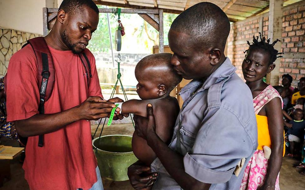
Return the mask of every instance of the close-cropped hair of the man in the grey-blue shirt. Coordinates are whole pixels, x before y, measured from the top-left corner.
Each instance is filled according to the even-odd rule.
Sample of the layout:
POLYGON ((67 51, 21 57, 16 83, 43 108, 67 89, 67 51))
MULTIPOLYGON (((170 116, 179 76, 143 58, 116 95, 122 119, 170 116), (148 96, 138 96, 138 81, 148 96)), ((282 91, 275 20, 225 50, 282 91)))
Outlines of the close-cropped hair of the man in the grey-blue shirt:
POLYGON ((200 2, 179 14, 171 29, 188 34, 189 41, 197 47, 224 50, 230 33, 230 21, 217 5, 200 2))

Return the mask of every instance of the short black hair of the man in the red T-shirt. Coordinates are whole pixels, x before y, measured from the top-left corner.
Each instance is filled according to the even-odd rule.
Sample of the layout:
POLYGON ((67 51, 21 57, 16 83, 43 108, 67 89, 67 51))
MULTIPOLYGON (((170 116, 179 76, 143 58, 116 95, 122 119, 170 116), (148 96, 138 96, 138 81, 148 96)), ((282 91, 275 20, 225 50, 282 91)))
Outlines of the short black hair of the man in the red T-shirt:
POLYGON ((64 10, 67 13, 73 14, 81 12, 83 6, 93 9, 97 14, 99 9, 92 0, 64 0, 58 10, 64 10))

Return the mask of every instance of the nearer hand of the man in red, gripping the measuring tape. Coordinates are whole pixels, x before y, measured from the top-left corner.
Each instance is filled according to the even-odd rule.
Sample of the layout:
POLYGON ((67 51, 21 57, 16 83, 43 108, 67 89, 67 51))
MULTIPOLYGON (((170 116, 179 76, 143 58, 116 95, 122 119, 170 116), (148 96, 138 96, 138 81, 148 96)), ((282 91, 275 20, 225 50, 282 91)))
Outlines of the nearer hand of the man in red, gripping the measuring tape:
MULTIPOLYGON (((112 108, 116 107, 113 103, 107 103, 101 97, 89 97, 76 108, 79 119, 98 120, 106 118, 111 113, 112 108)), ((119 111, 119 108, 117 108, 119 111)))

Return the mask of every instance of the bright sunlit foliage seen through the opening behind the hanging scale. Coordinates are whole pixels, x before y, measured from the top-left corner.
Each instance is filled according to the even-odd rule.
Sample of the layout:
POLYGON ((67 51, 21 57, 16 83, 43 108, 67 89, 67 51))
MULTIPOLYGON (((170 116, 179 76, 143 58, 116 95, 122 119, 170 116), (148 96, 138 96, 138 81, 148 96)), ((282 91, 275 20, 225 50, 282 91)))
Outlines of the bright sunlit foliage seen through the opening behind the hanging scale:
MULTIPOLYGON (((98 6, 105 8, 105 6, 98 6)), ((163 14, 164 45, 168 44, 168 30, 177 14, 163 14)), ((114 35, 117 29, 117 16, 109 13, 113 49, 114 35)), ((125 27, 122 37, 122 53, 152 53, 152 47, 159 44, 159 32, 137 14, 121 14, 121 22, 125 27)), ((92 52, 111 52, 106 13, 100 13, 97 30, 93 33, 88 48, 92 52)))

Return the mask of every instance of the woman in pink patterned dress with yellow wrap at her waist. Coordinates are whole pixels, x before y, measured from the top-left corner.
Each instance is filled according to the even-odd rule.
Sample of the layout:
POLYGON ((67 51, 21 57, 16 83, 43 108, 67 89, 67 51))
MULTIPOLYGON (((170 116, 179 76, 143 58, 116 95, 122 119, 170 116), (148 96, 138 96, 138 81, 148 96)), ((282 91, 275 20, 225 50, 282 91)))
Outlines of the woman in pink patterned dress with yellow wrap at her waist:
POLYGON ((279 187, 279 171, 282 165, 284 138, 283 138, 283 114, 282 98, 271 86, 263 82, 263 77, 274 68, 274 61, 278 51, 274 44, 265 37, 253 36, 253 43, 245 60, 242 63, 242 71, 246 84, 253 96, 258 127, 258 147, 246 166, 240 189, 242 190, 274 190, 279 187))

